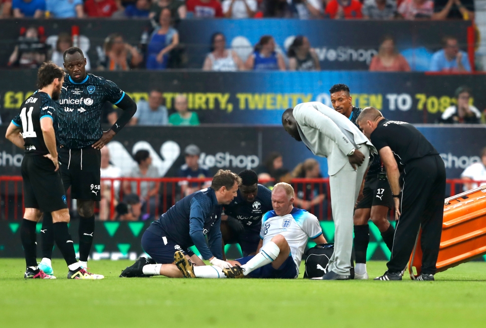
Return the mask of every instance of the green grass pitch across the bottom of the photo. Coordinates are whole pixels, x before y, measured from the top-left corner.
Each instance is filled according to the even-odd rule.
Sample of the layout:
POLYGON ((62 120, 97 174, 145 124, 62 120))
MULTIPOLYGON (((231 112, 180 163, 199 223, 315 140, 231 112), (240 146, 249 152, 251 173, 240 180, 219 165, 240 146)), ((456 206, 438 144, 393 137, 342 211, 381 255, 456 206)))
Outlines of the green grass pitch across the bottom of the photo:
MULTIPOLYGON (((130 261, 91 261, 104 280, 26 280, 22 259, 0 259, 2 327, 484 327, 486 263, 436 282, 118 278, 130 261)), ((369 262, 370 277, 385 262, 369 262)), ((301 273, 302 276, 302 273, 301 273)))

